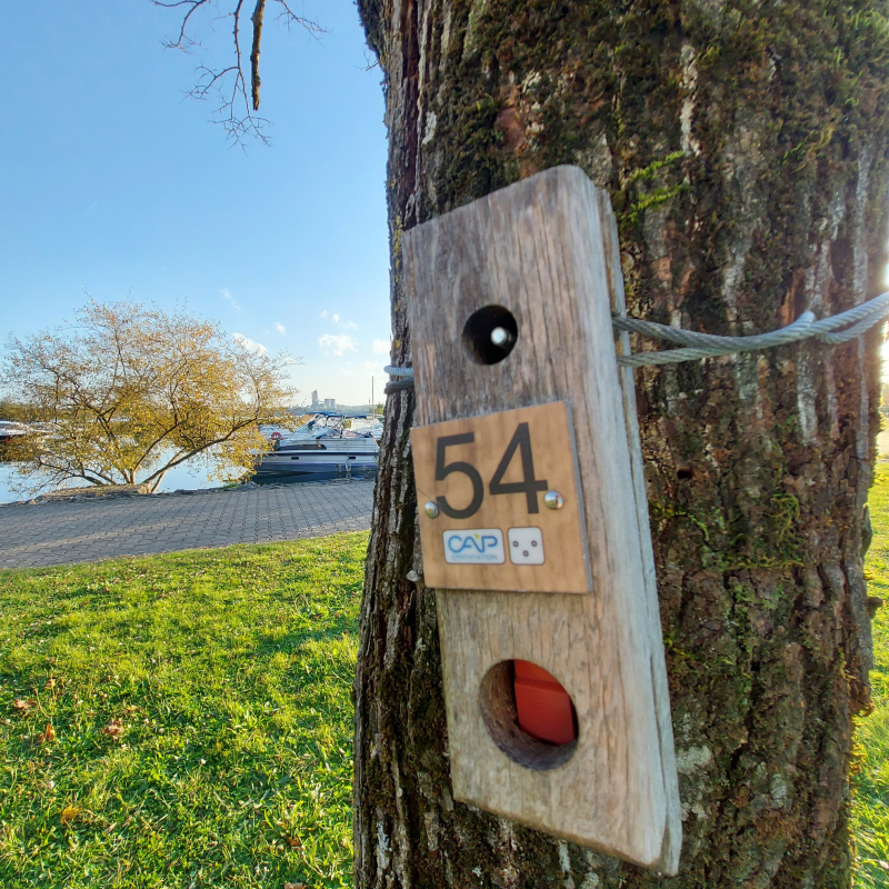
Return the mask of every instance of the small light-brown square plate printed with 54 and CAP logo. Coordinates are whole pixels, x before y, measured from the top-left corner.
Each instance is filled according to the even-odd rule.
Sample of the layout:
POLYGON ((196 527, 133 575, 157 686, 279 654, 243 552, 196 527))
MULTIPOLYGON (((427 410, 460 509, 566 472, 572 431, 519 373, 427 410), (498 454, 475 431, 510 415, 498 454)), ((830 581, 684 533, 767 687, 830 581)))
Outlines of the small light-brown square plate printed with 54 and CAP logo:
POLYGON ((411 446, 427 583, 590 590, 563 401, 420 427, 411 446))

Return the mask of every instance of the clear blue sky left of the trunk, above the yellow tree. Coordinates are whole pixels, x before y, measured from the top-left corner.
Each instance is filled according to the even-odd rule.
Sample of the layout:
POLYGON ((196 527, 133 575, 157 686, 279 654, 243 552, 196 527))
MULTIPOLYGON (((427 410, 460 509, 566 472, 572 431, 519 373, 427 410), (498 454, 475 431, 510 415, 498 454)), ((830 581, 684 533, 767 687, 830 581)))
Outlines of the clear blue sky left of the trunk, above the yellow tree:
MULTIPOLYGON (((271 8, 270 8, 271 9, 271 8)), ((184 98, 207 59, 162 47, 174 11, 149 0, 8 4, 0 32, 2 333, 61 323, 87 300, 187 303, 312 389, 377 400, 388 362, 386 129, 380 70, 349 0, 267 16, 261 113, 271 148, 231 148, 184 98), (376 351, 374 351, 376 347, 376 351)), ((249 26, 249 23, 248 23, 249 26)), ((226 61, 230 22, 200 19, 226 61)), ((246 39, 249 41, 249 27, 246 39)), ((3 337, 3 340, 6 336, 3 337)))

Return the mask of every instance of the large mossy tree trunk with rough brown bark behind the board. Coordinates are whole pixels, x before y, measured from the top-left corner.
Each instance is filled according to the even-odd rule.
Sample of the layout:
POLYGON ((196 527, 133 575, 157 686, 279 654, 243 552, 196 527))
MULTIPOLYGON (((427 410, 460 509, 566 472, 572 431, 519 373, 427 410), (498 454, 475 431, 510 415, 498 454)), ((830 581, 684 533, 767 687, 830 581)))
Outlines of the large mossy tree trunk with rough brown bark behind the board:
MULTIPOLYGON (((411 362, 401 232, 557 163, 611 194, 631 316, 752 333, 879 292, 885 2, 359 7, 386 76, 396 363, 411 362)), ((682 798, 673 878, 453 801, 413 398, 388 399, 356 679, 357 887, 849 885, 878 342, 636 372, 682 798)))

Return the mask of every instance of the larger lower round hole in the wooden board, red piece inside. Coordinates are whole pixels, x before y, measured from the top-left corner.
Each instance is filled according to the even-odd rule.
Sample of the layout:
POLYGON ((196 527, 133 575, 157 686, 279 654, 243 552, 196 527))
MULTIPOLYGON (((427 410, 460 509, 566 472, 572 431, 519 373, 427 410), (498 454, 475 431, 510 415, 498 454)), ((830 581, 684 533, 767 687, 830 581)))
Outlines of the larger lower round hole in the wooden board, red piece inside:
POLYGON ((481 718, 491 740, 513 762, 558 769, 577 748, 577 711, 552 673, 528 660, 495 663, 479 689, 481 718))

